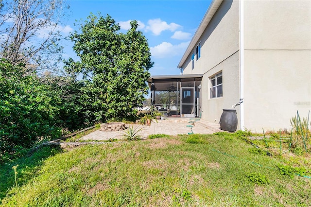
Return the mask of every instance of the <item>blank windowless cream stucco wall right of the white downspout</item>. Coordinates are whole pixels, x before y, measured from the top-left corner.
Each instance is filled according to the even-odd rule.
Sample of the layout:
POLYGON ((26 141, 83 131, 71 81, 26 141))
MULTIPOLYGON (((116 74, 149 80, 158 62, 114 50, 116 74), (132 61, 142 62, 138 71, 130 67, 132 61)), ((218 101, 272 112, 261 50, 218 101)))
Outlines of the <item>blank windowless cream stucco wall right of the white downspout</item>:
POLYGON ((291 128, 311 110, 311 1, 244 2, 245 128, 291 128))

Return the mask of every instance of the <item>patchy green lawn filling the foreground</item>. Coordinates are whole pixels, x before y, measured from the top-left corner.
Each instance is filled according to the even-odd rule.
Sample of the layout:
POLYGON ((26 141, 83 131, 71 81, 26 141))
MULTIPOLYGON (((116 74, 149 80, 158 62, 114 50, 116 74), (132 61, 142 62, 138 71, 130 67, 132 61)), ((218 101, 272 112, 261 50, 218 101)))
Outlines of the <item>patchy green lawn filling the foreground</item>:
POLYGON ((310 155, 267 156, 250 148, 225 134, 45 147, 1 166, 1 205, 310 205, 311 179, 280 168, 299 163, 310 175, 310 155), (12 169, 17 164, 18 188, 12 169))

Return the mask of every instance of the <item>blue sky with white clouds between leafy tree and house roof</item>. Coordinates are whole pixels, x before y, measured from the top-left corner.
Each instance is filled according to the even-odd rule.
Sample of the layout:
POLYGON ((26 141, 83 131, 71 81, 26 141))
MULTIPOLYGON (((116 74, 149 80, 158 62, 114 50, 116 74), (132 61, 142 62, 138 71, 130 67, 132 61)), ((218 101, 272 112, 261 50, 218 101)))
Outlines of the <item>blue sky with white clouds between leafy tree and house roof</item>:
MULTIPOLYGON (((75 20, 90 13, 109 14, 126 32, 129 20, 137 20, 148 40, 154 67, 151 75, 179 74, 177 65, 204 17, 210 0, 68 0, 70 13, 64 21, 66 32, 78 31, 75 20)), ((73 44, 64 43, 64 58, 75 57, 73 44)), ((75 59, 75 58, 74 58, 75 59)))

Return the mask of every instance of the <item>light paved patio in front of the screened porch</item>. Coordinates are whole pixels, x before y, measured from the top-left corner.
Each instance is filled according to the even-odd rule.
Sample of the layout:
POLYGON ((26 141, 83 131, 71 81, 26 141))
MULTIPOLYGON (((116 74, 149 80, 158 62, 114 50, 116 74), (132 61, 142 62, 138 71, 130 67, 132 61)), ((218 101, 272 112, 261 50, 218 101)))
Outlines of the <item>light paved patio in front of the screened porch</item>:
MULTIPOLYGON (((188 134, 191 132, 191 127, 187 127, 187 125, 191 125, 189 121, 190 118, 165 118, 165 120, 153 120, 149 125, 141 125, 141 124, 126 124, 126 127, 134 127, 138 129, 142 129, 139 132, 141 138, 147 138, 149 135, 153 134, 166 134, 166 135, 180 135, 180 134, 188 134)), ((103 132, 97 130, 92 132, 79 140, 109 140, 109 139, 122 139, 122 131, 116 132, 103 132)), ((194 134, 213 134, 215 132, 220 132, 222 130, 219 129, 219 124, 212 123, 204 120, 194 121, 194 125, 192 127, 192 131, 194 134)))

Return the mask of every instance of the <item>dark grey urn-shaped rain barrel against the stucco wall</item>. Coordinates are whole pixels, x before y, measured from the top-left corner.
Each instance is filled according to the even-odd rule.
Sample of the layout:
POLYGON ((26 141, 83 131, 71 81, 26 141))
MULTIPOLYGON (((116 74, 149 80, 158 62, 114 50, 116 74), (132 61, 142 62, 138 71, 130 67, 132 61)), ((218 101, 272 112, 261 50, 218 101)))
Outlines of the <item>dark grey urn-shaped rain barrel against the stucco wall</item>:
POLYGON ((223 109, 222 116, 220 117, 220 129, 228 132, 234 132, 237 130, 238 117, 237 110, 235 109, 223 109))

